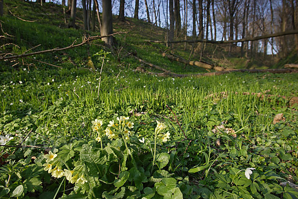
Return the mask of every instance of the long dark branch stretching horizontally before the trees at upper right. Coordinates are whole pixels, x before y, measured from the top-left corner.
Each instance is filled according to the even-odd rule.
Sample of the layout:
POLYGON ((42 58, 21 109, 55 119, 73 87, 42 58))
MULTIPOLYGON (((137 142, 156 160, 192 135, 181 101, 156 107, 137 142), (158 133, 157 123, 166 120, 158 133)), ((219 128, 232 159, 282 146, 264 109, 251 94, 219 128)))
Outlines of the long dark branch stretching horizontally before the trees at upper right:
POLYGON ((237 42, 243 42, 243 41, 256 41, 256 40, 261 40, 261 39, 267 39, 267 38, 272 38, 272 37, 280 37, 280 36, 285 36, 285 35, 290 35, 290 34, 298 34, 298 29, 297 30, 290 30, 290 31, 284 31, 284 32, 277 32, 273 34, 265 34, 257 37, 252 37, 252 38, 243 38, 243 39, 236 39, 236 40, 228 40, 228 41, 214 41, 214 40, 206 40, 206 39, 196 39, 196 40, 180 40, 180 41, 154 41, 154 40, 145 40, 146 42, 151 42, 151 43, 213 43, 213 44, 224 44, 224 43, 237 43, 237 42))

